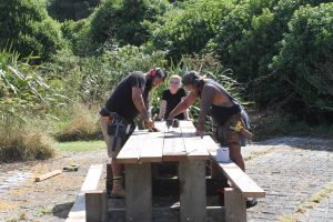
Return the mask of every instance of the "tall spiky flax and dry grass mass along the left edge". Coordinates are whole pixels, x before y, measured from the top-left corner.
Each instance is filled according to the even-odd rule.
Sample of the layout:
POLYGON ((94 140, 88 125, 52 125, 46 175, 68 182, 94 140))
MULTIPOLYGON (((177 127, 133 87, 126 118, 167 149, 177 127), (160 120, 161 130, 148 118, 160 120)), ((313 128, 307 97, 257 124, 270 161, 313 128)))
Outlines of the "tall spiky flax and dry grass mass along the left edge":
POLYGON ((19 54, 10 48, 0 51, 1 162, 53 155, 46 133, 29 123, 31 117, 46 118, 61 97, 39 74, 40 67, 30 64, 33 59, 19 60, 19 54))

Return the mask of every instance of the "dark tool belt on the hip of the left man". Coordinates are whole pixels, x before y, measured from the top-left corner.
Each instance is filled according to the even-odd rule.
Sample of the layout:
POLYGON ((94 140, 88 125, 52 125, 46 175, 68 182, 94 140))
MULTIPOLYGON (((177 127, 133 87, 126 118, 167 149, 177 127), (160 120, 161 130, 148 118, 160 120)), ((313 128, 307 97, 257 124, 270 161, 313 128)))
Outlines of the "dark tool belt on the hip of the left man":
POLYGON ((120 139, 124 142, 134 131, 133 122, 125 120, 117 112, 110 112, 110 121, 108 122, 108 135, 113 137, 112 151, 115 150, 117 142, 120 139))

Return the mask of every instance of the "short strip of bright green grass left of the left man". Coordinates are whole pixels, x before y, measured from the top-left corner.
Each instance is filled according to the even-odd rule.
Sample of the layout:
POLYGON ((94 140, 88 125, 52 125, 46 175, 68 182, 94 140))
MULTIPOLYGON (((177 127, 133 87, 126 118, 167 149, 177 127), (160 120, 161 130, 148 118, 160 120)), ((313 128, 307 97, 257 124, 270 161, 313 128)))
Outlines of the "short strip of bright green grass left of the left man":
POLYGON ((92 150, 107 149, 104 141, 75 141, 75 142, 58 142, 56 149, 59 151, 83 152, 92 150))

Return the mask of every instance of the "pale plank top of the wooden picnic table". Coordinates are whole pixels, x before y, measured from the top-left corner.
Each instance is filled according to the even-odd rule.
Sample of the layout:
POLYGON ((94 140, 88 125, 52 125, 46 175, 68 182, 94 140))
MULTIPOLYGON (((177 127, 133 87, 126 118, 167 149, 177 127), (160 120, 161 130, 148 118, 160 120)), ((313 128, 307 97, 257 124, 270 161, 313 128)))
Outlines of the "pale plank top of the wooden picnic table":
POLYGON ((167 128, 165 122, 155 122, 159 132, 138 130, 129 138, 117 157, 120 163, 163 162, 180 160, 206 160, 218 144, 205 135, 195 135, 191 121, 180 121, 179 128, 167 128))

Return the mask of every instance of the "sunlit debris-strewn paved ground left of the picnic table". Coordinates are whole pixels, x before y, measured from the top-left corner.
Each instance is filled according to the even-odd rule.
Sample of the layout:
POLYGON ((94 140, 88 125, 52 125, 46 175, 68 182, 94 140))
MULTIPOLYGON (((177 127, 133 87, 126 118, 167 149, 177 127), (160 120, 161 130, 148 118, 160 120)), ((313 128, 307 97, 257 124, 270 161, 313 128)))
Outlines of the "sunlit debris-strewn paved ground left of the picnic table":
POLYGON ((64 221, 91 164, 104 163, 105 151, 60 153, 52 160, 0 165, 0 221, 64 221), (36 175, 79 164, 41 182, 36 175))

